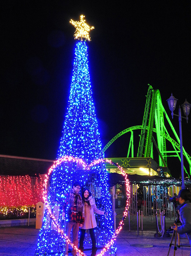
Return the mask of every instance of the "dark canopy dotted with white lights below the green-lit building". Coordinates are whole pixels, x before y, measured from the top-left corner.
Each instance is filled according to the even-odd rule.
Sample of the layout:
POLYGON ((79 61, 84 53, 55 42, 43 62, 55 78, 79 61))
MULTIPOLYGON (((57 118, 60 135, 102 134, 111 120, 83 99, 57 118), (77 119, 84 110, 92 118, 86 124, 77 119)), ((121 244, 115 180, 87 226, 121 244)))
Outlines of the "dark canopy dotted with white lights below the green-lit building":
MULTIPOLYGON (((176 185, 181 187, 181 179, 178 178, 167 178, 167 177, 159 177, 159 176, 149 176, 149 175, 138 175, 132 174, 128 175, 128 180, 130 184, 142 184, 144 186, 149 185, 160 185, 163 187, 168 187, 170 185, 176 185)), ((108 185, 110 187, 115 186, 116 184, 125 185, 125 178, 122 174, 119 173, 108 173, 108 185)), ((185 178, 186 187, 191 187, 191 180, 185 178)))

